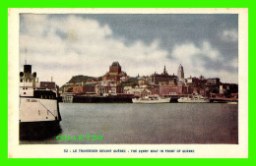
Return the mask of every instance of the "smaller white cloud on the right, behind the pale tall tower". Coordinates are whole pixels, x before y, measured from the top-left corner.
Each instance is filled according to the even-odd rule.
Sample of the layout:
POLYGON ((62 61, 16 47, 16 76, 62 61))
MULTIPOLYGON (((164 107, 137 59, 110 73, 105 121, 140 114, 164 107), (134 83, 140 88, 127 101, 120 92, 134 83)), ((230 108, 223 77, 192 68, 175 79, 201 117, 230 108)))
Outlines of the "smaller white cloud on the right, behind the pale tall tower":
POLYGON ((237 69, 238 63, 233 59, 231 63, 226 63, 221 52, 212 46, 209 41, 203 41, 196 45, 193 42, 176 44, 170 53, 175 64, 182 64, 185 71, 185 78, 199 77, 203 75, 206 78, 221 78, 221 81, 237 83, 237 75, 226 77, 228 73, 224 69, 237 69))

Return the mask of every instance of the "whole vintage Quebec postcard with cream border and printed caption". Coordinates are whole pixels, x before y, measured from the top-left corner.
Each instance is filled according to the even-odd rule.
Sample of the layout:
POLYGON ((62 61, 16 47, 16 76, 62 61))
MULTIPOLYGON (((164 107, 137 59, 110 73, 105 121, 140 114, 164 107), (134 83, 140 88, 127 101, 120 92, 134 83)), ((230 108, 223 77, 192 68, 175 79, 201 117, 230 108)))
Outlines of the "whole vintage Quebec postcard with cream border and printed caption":
POLYGON ((247 158, 247 9, 9 9, 10 158, 247 158))

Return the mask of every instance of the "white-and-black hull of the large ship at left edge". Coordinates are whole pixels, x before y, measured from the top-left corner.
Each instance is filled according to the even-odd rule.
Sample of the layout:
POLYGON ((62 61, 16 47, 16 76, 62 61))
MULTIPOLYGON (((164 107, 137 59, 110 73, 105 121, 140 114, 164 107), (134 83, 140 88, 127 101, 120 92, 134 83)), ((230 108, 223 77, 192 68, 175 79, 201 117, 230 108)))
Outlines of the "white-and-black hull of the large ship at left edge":
POLYGON ((47 138, 61 131, 58 101, 20 97, 20 138, 47 138))

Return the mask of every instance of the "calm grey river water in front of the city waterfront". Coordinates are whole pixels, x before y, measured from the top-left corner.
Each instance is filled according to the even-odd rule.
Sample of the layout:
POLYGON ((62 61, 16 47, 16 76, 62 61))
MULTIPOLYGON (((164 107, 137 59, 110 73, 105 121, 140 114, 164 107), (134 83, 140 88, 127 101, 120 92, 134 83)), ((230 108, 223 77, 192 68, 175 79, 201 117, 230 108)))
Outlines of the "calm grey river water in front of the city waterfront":
POLYGON ((62 132, 101 140, 22 140, 35 144, 238 143, 238 105, 224 103, 60 103, 62 132))

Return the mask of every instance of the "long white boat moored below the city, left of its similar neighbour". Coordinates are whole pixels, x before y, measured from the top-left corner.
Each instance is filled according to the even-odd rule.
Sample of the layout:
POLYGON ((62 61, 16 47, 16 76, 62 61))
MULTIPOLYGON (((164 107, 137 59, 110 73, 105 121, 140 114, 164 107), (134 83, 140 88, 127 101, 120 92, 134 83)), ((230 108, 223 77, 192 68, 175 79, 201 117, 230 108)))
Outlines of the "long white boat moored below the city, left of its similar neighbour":
POLYGON ((170 97, 160 97, 159 95, 145 96, 140 98, 133 98, 133 103, 169 103, 170 97))

